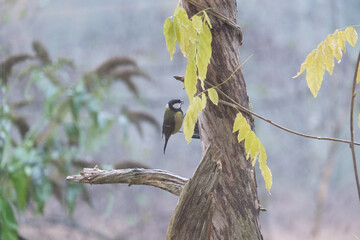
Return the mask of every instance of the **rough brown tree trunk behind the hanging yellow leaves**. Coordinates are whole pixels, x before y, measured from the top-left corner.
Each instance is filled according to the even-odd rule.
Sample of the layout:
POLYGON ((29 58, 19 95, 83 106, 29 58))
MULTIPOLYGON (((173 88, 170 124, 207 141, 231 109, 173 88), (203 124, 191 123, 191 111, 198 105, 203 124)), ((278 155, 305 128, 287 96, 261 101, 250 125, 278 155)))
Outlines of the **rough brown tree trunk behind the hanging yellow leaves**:
MULTIPOLYGON (((236 22, 235 0, 197 0, 196 2, 236 22)), ((183 6, 189 17, 202 10, 191 4, 189 0, 184 0, 183 6)), ((232 26, 213 15, 210 15, 210 18, 213 26, 212 58, 206 81, 218 85, 240 65, 241 40, 238 31, 232 26)), ((240 70, 221 85, 220 89, 248 108, 246 85, 240 70)), ((228 101, 220 93, 219 98, 228 101)), ((169 226, 168 239, 262 239, 254 168, 246 158, 243 143, 239 144, 236 135, 232 133, 236 114, 236 110, 232 107, 223 104, 215 106, 212 103, 208 103, 200 114, 199 127, 203 154, 210 145, 219 149, 215 163, 214 159, 208 160, 215 164, 213 170, 216 169, 216 174, 213 174, 211 168, 200 169, 199 166, 187 185, 199 185, 199 189, 206 189, 205 185, 211 184, 211 188, 208 188, 211 193, 206 194, 205 191, 184 196, 189 193, 182 191, 177 209, 182 209, 184 220, 188 222, 191 220, 193 224, 187 224, 187 221, 174 222, 175 211, 169 226), (204 181, 199 177, 204 174, 216 179, 209 178, 204 181), (187 201, 182 201, 185 197, 187 201), (200 212, 206 214, 194 211, 194 206, 202 209, 203 211, 200 212)), ((248 122, 253 123, 248 115, 243 115, 248 118, 248 122)), ((191 186, 186 187, 188 188, 191 186)))

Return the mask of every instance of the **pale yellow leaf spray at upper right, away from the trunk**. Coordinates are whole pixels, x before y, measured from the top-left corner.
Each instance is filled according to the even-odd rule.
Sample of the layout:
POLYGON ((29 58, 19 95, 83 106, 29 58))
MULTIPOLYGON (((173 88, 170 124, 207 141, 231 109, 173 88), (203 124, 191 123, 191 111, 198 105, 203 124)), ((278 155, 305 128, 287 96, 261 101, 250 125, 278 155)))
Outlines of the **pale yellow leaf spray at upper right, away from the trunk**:
MULTIPOLYGON (((308 87, 314 98, 316 98, 324 78, 325 70, 330 75, 333 73, 334 57, 340 62, 343 55, 342 52, 346 51, 346 41, 354 47, 357 40, 358 35, 353 27, 347 27, 344 31, 336 29, 334 33, 328 35, 324 41, 319 43, 316 49, 307 55, 305 61, 301 64, 300 71, 293 78, 300 76, 306 69, 308 87)), ((359 81, 360 77, 357 79, 358 83, 359 81)))

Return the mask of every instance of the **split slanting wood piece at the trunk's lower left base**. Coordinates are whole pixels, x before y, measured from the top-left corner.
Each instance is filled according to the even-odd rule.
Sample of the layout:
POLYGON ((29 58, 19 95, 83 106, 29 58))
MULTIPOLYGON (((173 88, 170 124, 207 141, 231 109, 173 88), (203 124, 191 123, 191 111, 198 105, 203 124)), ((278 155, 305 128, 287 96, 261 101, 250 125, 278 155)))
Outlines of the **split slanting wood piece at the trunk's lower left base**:
POLYGON ((211 219, 216 208, 213 192, 219 183, 221 157, 220 150, 210 145, 193 178, 182 190, 169 224, 167 239, 207 239, 210 236, 211 221, 199 219, 211 219), (194 215, 197 217, 194 218, 194 215))

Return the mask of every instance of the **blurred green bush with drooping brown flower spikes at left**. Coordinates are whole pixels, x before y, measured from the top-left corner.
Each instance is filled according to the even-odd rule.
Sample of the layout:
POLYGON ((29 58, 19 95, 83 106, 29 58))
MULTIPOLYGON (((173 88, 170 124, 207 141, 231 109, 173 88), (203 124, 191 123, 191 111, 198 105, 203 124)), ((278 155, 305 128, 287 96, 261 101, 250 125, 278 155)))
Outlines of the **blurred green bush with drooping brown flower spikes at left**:
POLYGON ((143 121, 159 129, 149 114, 124 107, 119 115, 104 106, 115 81, 131 86, 129 91, 140 97, 132 77, 150 78, 132 59, 110 58, 74 81, 71 60, 53 61, 38 41, 33 50, 34 55, 10 56, 0 64, 1 239, 17 239, 14 212, 24 211, 32 202, 36 212, 43 213, 54 195, 71 215, 79 196, 90 201, 84 186, 65 183, 65 176, 104 143, 119 116, 134 123, 140 133, 143 121), (20 64, 23 69, 15 74, 20 64), (25 98, 14 102, 11 96, 16 91, 24 92, 25 98))

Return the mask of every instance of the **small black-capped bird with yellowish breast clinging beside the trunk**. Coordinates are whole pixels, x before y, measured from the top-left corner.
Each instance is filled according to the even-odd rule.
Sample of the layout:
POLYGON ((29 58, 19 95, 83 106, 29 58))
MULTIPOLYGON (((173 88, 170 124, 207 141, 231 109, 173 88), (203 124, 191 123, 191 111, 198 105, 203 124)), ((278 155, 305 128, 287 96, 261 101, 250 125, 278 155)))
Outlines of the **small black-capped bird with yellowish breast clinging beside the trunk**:
POLYGON ((170 136, 179 132, 183 123, 184 113, 181 110, 183 103, 180 99, 172 99, 166 105, 162 128, 162 136, 164 137, 165 135, 164 154, 170 136))

